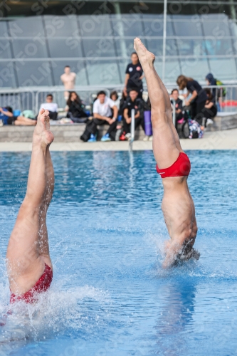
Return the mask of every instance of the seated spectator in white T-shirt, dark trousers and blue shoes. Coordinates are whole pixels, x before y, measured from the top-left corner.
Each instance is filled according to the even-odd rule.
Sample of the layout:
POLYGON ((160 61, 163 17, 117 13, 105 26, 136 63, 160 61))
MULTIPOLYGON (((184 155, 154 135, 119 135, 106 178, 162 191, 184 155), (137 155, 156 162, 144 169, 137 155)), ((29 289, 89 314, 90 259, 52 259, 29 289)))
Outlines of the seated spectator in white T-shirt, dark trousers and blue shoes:
POLYGON ((117 113, 115 102, 107 98, 106 93, 101 90, 93 105, 93 123, 90 125, 91 135, 88 142, 96 141, 97 125, 109 125, 107 133, 101 139, 102 142, 115 140, 117 113))

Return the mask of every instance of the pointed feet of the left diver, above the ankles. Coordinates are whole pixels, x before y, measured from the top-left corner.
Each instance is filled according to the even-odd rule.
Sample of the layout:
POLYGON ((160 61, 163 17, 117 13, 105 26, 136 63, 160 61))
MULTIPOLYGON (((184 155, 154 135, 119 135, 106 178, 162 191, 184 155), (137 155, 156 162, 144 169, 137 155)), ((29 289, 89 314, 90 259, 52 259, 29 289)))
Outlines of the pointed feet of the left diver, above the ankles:
POLYGON ((36 128, 33 132, 33 141, 40 142, 41 147, 45 148, 53 142, 53 132, 50 130, 50 118, 48 110, 41 109, 37 117, 36 128))

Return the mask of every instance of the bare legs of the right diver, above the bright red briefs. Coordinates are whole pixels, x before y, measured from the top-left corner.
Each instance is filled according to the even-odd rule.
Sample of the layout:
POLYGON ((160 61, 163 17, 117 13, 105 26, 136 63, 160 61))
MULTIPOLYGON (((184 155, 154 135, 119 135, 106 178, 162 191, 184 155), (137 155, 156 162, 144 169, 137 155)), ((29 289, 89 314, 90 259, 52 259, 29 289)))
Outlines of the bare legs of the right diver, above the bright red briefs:
POLYGON ((172 122, 169 94, 154 68, 154 54, 147 51, 142 41, 135 38, 135 50, 147 80, 152 105, 153 152, 159 168, 170 167, 179 157, 179 136, 172 122))

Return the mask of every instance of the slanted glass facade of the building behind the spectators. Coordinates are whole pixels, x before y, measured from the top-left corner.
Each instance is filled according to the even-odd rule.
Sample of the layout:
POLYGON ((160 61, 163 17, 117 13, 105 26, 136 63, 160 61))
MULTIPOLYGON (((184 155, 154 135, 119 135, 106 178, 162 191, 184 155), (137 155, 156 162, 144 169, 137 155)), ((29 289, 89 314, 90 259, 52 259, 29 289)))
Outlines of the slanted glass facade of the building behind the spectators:
MULTIPOLYGON (((0 85, 60 85, 65 65, 77 85, 119 85, 139 36, 162 73, 163 3, 4 1, 0 85)), ((168 1, 165 82, 209 72, 237 81, 237 2, 168 1)))

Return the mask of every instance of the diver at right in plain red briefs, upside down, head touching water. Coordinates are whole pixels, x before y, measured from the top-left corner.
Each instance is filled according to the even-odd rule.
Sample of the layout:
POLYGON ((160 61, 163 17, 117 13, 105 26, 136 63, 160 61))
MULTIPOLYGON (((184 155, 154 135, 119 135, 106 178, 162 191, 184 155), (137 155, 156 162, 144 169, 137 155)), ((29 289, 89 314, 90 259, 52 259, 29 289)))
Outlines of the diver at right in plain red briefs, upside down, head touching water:
POLYGON ((181 149, 172 122, 169 94, 154 68, 154 54, 147 51, 139 38, 135 38, 135 50, 144 70, 152 105, 153 152, 157 172, 162 177, 162 211, 170 236, 166 242, 163 263, 163 267, 167 268, 177 259, 199 258, 199 253, 193 248, 197 226, 194 201, 187 184, 191 164, 181 149))

